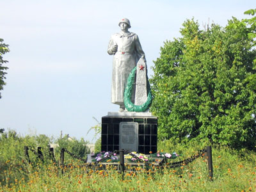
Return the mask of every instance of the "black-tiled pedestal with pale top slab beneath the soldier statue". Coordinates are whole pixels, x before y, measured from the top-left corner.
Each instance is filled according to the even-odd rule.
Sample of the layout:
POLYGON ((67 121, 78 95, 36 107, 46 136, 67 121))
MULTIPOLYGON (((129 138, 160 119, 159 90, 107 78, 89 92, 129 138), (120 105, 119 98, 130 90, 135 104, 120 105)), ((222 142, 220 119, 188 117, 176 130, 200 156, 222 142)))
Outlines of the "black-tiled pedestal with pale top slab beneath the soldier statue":
POLYGON ((109 112, 102 116, 101 150, 120 150, 120 123, 138 123, 138 152, 157 152, 157 117, 151 113, 109 112))

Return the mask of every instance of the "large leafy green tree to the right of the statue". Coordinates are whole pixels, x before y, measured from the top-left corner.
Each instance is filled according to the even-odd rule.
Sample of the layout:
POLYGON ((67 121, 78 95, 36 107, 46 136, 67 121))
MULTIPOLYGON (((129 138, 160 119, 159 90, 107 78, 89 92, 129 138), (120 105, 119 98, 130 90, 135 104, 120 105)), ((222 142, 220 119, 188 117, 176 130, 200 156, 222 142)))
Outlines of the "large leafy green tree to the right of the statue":
POLYGON ((233 17, 200 30, 186 20, 182 37, 164 43, 150 79, 160 139, 255 147, 255 24, 233 17))

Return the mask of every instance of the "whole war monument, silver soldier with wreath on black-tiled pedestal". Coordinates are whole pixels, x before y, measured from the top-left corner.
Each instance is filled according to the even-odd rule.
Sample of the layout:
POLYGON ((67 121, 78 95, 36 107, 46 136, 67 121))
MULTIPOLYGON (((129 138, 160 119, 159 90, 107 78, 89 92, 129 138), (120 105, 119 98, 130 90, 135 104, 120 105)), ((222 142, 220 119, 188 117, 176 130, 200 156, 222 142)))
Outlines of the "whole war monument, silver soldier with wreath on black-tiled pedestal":
POLYGON ((120 33, 111 36, 108 54, 113 55, 111 102, 118 112, 102 117, 101 150, 125 149, 149 154, 157 151, 157 117, 148 108, 152 102, 147 62, 131 23, 121 19, 120 33))

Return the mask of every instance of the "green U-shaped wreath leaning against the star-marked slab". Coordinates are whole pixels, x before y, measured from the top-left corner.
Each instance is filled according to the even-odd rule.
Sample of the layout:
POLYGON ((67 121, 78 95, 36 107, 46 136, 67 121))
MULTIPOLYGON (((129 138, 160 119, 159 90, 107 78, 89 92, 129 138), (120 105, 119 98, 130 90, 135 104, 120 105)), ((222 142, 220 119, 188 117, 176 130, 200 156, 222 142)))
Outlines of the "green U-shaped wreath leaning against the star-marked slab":
POLYGON ((136 69, 137 67, 134 67, 129 74, 129 77, 127 79, 127 85, 125 87, 124 91, 124 106, 127 109, 127 111, 134 111, 134 112, 144 112, 146 111, 151 102, 152 102, 152 93, 150 90, 150 84, 148 82, 147 78, 147 92, 148 92, 148 97, 145 103, 141 104, 140 106, 136 106, 131 102, 131 96, 132 96, 132 83, 134 82, 135 79, 135 74, 136 74, 136 69))

